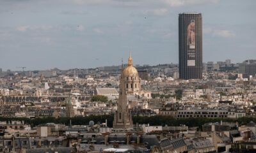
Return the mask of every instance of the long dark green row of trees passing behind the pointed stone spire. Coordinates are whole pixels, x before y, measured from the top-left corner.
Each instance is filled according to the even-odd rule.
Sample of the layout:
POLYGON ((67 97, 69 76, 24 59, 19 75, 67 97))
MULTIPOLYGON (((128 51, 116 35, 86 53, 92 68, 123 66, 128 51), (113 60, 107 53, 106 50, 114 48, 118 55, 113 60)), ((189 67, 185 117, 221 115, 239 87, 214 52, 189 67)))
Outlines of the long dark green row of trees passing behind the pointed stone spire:
MULTIPOLYGON (((108 120, 108 127, 113 127, 113 119, 114 115, 90 115, 85 117, 59 117, 58 119, 54 117, 37 117, 36 119, 28 119, 28 118, 22 118, 22 117, 0 117, 0 121, 10 121, 10 120, 23 120, 25 124, 30 124, 31 127, 38 126, 40 124, 46 124, 49 122, 53 122, 56 124, 70 124, 70 119, 72 120, 73 125, 88 125, 90 120, 93 120, 95 123, 97 122, 105 122, 108 120)), ((232 119, 232 118, 207 118, 207 117, 200 117, 200 118, 184 118, 184 119, 177 119, 175 117, 171 116, 165 116, 165 115, 155 115, 151 117, 141 117, 139 115, 132 116, 132 120, 134 124, 138 122, 138 124, 150 124, 152 126, 180 126, 181 124, 184 124, 188 127, 199 127, 202 129, 202 126, 205 123, 209 122, 220 122, 221 120, 223 122, 238 122, 239 125, 248 124, 249 122, 253 121, 256 122, 256 117, 240 117, 238 119, 232 119)))

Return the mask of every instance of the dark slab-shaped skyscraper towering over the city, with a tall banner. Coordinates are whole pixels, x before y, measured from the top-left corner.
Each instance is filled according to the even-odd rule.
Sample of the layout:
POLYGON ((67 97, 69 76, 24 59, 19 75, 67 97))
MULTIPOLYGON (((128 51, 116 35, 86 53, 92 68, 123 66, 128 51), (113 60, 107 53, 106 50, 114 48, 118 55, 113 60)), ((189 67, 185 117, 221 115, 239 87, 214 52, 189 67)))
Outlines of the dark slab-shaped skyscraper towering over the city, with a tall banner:
POLYGON ((202 78, 202 15, 179 14, 179 77, 202 78))

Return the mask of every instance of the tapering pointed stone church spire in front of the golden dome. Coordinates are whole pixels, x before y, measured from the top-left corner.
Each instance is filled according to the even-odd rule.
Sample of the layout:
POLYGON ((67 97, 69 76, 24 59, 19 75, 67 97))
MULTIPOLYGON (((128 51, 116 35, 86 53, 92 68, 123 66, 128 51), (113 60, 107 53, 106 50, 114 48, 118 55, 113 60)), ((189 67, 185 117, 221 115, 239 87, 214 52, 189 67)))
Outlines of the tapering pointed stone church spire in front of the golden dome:
POLYGON ((119 85, 119 99, 117 110, 114 115, 113 128, 129 129, 133 127, 132 115, 128 109, 127 92, 125 91, 125 77, 124 69, 122 66, 122 73, 119 85))

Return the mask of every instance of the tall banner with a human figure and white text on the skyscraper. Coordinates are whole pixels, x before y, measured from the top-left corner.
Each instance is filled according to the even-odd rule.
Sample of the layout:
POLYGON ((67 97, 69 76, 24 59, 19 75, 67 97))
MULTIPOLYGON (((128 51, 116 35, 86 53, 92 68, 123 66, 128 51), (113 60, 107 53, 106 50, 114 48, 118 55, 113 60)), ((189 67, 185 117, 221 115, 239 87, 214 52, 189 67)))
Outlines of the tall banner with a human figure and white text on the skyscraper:
POLYGON ((191 20, 187 28, 188 66, 195 66, 195 20, 191 20))

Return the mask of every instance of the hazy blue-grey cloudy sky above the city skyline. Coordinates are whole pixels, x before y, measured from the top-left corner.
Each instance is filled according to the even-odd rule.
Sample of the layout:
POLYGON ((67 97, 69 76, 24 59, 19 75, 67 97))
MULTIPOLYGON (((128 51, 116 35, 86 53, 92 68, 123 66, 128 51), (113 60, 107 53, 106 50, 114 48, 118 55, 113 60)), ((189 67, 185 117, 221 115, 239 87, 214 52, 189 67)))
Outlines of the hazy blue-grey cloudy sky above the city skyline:
POLYGON ((178 63, 178 15, 203 17, 203 61, 256 59, 255 0, 1 0, 0 68, 178 63))

